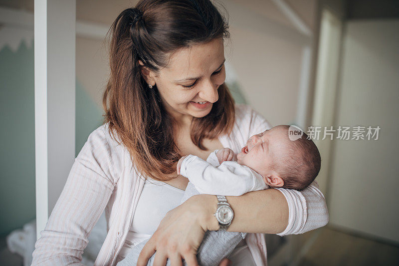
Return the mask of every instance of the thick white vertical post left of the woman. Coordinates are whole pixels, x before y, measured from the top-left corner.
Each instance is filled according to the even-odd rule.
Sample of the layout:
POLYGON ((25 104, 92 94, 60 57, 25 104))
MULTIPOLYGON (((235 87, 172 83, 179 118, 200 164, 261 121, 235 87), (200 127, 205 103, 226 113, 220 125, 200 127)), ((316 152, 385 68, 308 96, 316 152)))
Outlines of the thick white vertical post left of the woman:
POLYGON ((37 238, 75 158, 76 0, 34 0, 37 238))

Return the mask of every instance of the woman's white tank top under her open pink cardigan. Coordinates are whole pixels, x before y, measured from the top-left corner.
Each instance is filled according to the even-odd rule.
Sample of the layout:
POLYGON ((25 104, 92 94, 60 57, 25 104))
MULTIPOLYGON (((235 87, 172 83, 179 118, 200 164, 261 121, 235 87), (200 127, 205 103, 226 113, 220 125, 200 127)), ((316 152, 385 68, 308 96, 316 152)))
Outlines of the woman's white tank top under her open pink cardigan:
MULTIPOLYGON (((137 202, 129 233, 119 252, 118 261, 125 258, 130 249, 149 239, 154 234, 166 213, 180 205, 183 195, 184 190, 175 188, 165 182, 150 178, 146 180, 137 202)), ((242 265, 255 265, 244 240, 237 245, 229 259, 232 260, 233 265, 241 265, 240 261, 242 260, 244 261, 242 265)))

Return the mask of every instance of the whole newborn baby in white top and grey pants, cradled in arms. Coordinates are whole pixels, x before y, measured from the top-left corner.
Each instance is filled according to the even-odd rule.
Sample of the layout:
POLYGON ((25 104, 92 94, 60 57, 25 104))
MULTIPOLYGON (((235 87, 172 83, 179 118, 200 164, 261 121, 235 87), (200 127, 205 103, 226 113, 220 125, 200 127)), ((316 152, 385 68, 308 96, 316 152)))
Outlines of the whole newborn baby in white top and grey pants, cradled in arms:
MULTIPOLYGON (((280 125, 252 136, 236 156, 228 148, 213 151, 206 161, 194 155, 182 157, 177 172, 187 177, 182 202, 197 194, 239 196, 266 188, 302 190, 320 170, 320 154, 304 133, 299 139, 289 139, 289 126, 280 125), (237 159, 237 162, 231 161, 237 159)), ((246 233, 206 231, 198 249, 199 265, 214 266, 231 254, 246 233)), ((137 265, 138 257, 147 243, 132 247, 118 266, 137 265)), ((154 264, 155 254, 147 266, 154 264)), ((183 265, 187 263, 183 260, 183 265)), ((166 266, 171 266, 170 259, 166 266)))

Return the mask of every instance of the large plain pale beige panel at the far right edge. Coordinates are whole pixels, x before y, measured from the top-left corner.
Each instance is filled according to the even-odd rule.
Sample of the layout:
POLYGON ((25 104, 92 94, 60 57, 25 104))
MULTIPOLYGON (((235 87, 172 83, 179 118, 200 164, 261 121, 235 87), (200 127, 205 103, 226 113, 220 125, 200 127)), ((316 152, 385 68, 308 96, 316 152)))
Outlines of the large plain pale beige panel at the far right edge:
POLYGON ((380 126, 378 140, 337 140, 330 224, 399 242, 399 20, 348 21, 336 125, 380 126))

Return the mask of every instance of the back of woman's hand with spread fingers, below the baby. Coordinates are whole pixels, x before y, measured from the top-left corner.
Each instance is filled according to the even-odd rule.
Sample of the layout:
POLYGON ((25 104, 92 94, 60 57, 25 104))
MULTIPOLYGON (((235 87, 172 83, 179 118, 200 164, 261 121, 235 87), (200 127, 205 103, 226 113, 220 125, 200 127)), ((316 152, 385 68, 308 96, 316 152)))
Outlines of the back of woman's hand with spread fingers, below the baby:
MULTIPOLYGON (((183 265, 182 259, 186 260, 188 266, 198 266, 197 251, 205 232, 212 230, 207 228, 206 219, 209 219, 212 211, 215 212, 217 202, 214 196, 213 204, 199 200, 198 196, 201 195, 191 197, 166 214, 157 231, 141 251, 138 266, 146 266, 155 252, 154 266, 165 266, 168 258, 173 266, 183 265), (215 210, 209 206, 213 206, 215 210)), ((223 262, 224 265, 226 262, 223 262)))

